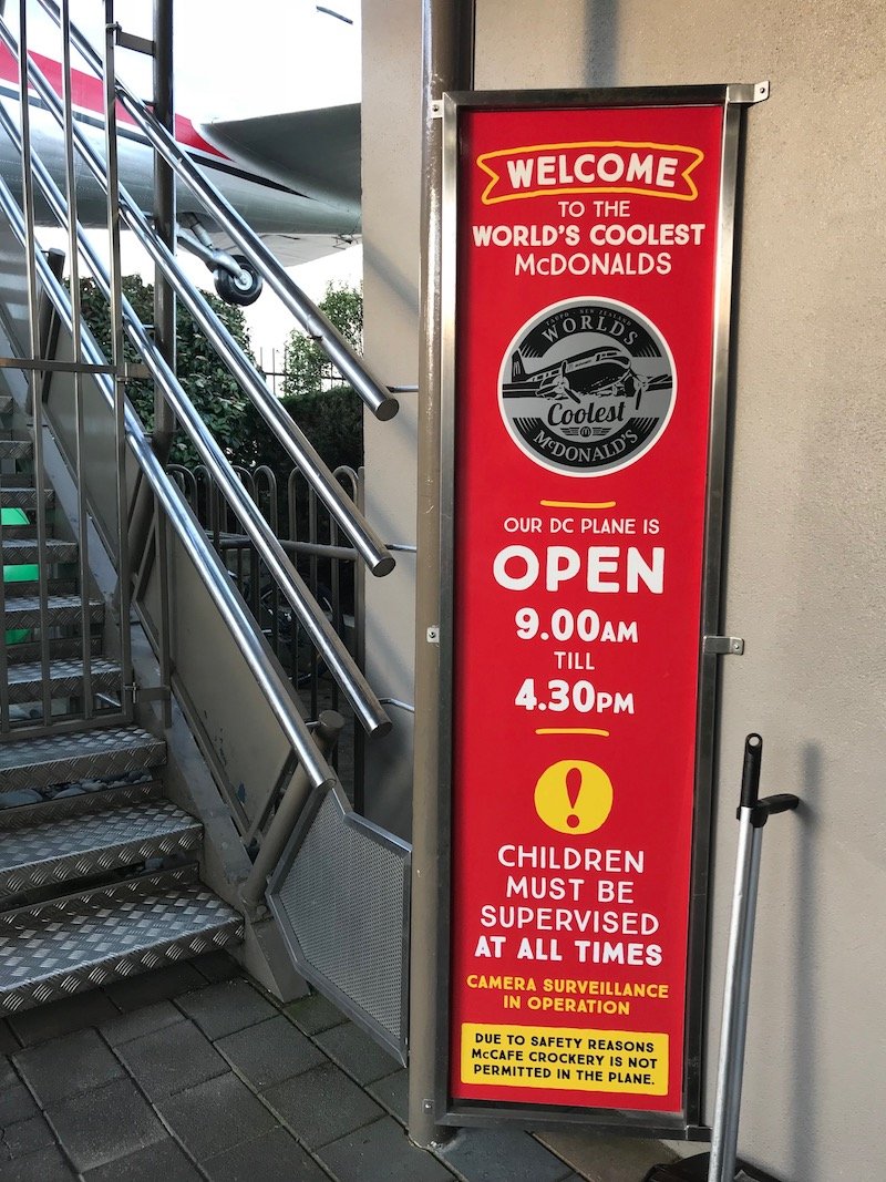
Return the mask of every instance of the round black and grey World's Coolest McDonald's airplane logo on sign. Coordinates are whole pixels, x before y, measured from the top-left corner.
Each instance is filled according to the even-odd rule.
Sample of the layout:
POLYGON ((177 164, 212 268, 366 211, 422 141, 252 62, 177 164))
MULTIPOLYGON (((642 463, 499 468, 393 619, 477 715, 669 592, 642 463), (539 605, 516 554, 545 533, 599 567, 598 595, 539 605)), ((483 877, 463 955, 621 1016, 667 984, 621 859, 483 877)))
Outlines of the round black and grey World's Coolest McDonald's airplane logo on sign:
POLYGON ((499 405, 516 446, 569 476, 634 463, 660 437, 677 375, 662 333, 636 309, 593 296, 553 304, 512 340, 499 405))

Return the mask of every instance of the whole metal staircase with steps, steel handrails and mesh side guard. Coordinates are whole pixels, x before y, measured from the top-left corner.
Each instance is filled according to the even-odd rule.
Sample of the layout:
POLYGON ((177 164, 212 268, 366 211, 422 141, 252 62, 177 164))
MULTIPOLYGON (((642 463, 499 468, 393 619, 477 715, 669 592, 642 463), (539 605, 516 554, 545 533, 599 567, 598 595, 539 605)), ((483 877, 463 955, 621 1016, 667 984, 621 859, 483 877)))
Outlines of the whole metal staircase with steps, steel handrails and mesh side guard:
MULTIPOLYGON (((27 59, 20 126, 0 104, 0 136, 24 161, 21 202, 0 177, 0 1013, 240 944, 269 991, 291 1000, 310 981, 405 1063, 410 847, 354 813, 327 761, 341 719, 315 693, 302 700, 262 631, 262 595, 304 630, 354 726, 382 738, 392 720, 299 572, 324 547, 276 532, 178 381, 172 294, 328 513, 330 556, 353 561, 356 584, 395 559, 119 183, 111 112, 125 109, 371 413, 387 420, 397 402, 195 169, 158 104, 116 78, 113 38, 97 54, 53 0, 39 7, 116 103, 103 156, 0 15, 0 45, 27 59), (71 208, 74 169, 63 191, 24 134, 28 97, 58 124, 65 162, 111 194, 110 264, 71 208), (60 252, 34 235, 34 187, 70 230, 70 286, 60 252), (165 293, 150 327, 122 291, 118 223, 165 293), (104 349, 80 316, 76 259, 108 301, 104 349), (125 397, 145 377, 156 435, 125 397), (168 470, 171 423, 237 522, 252 612, 217 530, 168 470)), ((159 174, 169 207, 172 176, 159 174)))

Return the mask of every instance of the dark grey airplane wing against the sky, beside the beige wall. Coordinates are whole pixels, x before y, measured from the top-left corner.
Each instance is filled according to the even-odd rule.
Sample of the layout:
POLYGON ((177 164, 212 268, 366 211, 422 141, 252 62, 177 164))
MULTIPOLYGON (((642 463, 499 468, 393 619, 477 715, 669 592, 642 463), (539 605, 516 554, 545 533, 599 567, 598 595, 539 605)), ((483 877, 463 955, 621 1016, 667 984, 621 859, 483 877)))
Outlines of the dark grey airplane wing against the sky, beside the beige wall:
POLYGON ((215 119, 198 125, 214 148, 243 167, 334 207, 360 227, 360 104, 215 119))

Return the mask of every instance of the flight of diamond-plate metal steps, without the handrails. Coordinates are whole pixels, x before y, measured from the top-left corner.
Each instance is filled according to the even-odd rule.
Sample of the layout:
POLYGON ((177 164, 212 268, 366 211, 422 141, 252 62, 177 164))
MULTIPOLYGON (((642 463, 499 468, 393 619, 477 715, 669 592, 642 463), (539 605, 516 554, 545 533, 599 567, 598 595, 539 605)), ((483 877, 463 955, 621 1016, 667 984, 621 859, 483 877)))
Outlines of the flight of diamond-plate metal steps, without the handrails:
MULTIPOLYGON (((2 421, 12 409, 9 397, 0 400, 2 421)), ((201 824, 163 799, 165 742, 123 715, 123 670, 103 651, 113 630, 105 628, 102 598, 80 595, 77 543, 54 535, 64 522, 56 520, 52 489, 43 493, 52 535, 41 610, 39 579, 27 570, 40 557, 32 455, 30 440, 0 440, 0 506, 19 511, 4 514, 0 547, 9 579, 1 641, 1 1013, 243 937, 240 914, 200 881, 201 824)))

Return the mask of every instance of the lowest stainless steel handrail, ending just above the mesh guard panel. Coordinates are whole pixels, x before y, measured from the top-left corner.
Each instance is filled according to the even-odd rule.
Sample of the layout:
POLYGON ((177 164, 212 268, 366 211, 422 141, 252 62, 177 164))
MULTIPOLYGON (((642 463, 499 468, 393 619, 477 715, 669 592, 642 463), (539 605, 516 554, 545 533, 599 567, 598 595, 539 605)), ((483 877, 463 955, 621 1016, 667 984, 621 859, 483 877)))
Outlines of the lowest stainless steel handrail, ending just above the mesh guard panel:
MULTIPOLYGON (((0 209, 6 215, 22 248, 26 252, 30 251, 31 243, 28 242, 25 219, 2 177, 0 177, 0 209)), ((32 256, 37 264, 40 282, 56 306, 65 329, 70 332, 72 330, 70 297, 53 275, 43 254, 39 251, 34 251, 32 256)), ((90 358, 93 364, 99 364, 100 359, 103 359, 102 350, 85 325, 82 332, 84 356, 90 358)), ((109 407, 112 408, 112 379, 108 375, 97 374, 96 383, 102 389, 109 407)), ((203 584, 221 612, 286 739, 292 745, 293 751, 297 752, 311 782, 317 787, 330 784, 334 780, 334 774, 326 764, 326 760, 318 752, 307 725, 295 708, 288 687, 278 674, 275 667, 267 660, 259 635, 252 625, 246 608, 230 586, 228 572, 209 545, 206 534, 196 524, 193 514, 184 505, 175 482, 167 475, 154 454, 138 417, 129 404, 125 407, 125 427, 126 440, 138 466, 144 472, 145 479, 150 483, 157 501, 171 522, 182 545, 194 560, 203 584)))

